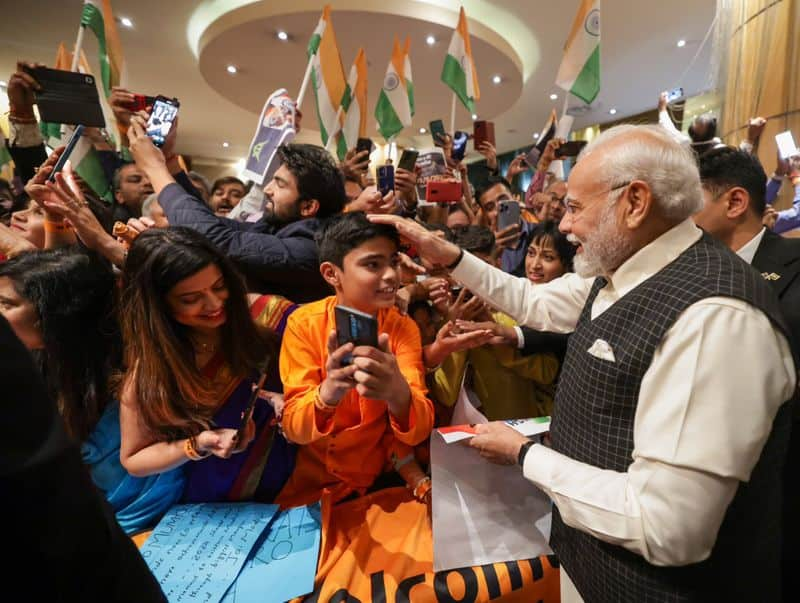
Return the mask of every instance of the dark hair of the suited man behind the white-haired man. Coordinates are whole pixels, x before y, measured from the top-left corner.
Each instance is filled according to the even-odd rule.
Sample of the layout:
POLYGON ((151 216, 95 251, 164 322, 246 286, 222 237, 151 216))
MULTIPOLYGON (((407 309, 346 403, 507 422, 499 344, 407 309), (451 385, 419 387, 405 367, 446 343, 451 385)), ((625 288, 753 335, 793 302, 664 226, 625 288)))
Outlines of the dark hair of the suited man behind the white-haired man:
POLYGON ((755 155, 733 147, 712 149, 700 156, 700 181, 714 196, 738 186, 750 195, 750 210, 761 217, 766 207, 767 174, 755 155))

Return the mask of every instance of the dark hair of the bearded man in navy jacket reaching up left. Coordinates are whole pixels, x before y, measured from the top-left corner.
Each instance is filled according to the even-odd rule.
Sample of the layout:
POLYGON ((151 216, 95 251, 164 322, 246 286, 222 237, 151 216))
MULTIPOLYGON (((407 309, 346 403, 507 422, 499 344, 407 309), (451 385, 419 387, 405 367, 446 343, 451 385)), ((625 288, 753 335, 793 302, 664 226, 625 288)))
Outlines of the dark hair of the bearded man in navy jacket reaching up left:
POLYGON ((319 201, 318 218, 338 214, 347 203, 344 178, 330 153, 311 144, 284 144, 278 158, 297 179, 300 200, 319 201))

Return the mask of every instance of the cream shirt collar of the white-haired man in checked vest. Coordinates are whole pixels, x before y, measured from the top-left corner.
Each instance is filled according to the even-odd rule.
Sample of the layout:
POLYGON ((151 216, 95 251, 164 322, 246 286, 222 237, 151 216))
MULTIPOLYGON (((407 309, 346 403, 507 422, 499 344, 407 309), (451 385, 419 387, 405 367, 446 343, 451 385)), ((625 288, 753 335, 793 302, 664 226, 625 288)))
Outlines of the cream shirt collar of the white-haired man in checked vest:
POLYGON ((700 240, 703 231, 687 218, 634 253, 609 277, 618 297, 655 275, 700 240))

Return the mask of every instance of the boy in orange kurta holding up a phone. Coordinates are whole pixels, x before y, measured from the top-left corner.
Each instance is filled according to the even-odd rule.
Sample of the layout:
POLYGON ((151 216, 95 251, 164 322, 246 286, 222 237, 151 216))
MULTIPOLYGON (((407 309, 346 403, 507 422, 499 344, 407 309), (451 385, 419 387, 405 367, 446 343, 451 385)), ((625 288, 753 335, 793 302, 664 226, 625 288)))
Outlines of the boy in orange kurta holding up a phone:
POLYGON ((295 311, 280 356, 286 437, 300 445, 294 473, 277 501, 297 506, 328 490, 337 502, 364 494, 433 428, 422 344, 414 322, 395 308, 398 239, 361 212, 333 218, 318 235, 320 272, 336 295, 295 311), (339 347, 334 307, 375 316, 378 348, 339 347), (352 356, 352 364, 342 360, 352 356))

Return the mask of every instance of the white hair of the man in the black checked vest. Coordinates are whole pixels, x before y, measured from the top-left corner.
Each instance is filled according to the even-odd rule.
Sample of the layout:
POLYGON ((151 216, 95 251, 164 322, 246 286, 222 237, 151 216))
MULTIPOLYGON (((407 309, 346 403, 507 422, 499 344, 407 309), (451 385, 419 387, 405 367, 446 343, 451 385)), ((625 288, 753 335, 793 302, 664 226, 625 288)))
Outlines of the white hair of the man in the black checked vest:
POLYGON ((609 188, 632 180, 646 182, 667 218, 682 221, 703 208, 694 154, 661 126, 609 128, 586 145, 579 159, 593 153, 601 159, 600 177, 609 188))

